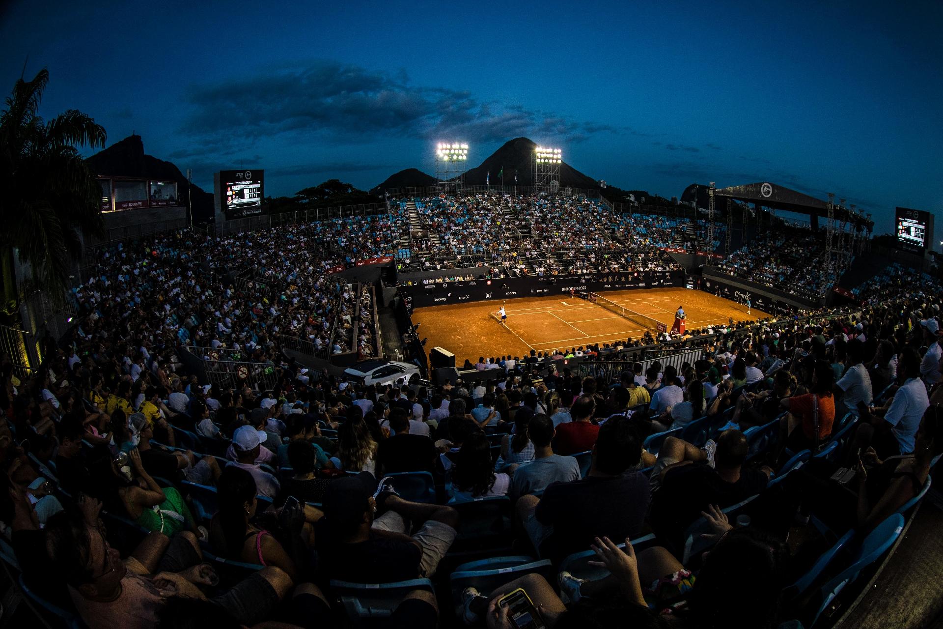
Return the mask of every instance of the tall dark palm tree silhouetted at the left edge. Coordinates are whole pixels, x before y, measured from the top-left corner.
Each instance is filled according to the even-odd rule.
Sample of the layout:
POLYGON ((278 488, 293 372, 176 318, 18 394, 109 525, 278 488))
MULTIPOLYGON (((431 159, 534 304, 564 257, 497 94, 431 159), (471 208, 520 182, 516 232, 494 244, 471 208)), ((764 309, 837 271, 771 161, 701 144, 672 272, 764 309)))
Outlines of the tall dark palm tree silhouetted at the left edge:
POLYGON ((80 234, 104 232, 101 185, 75 145, 104 146, 105 128, 75 109, 43 121, 37 110, 48 82, 45 69, 31 81, 21 76, 0 112, 0 281, 7 309, 19 300, 14 251, 36 288, 61 303, 70 266, 82 254, 80 234))

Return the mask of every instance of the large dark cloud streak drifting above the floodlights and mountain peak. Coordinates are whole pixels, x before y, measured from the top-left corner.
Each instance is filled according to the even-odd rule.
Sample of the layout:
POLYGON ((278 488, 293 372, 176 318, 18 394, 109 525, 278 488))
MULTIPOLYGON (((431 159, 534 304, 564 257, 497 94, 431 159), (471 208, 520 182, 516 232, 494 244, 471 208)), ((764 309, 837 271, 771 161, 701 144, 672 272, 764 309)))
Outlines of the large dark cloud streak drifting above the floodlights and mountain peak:
POLYGON ((282 64, 190 87, 181 133, 187 156, 234 155, 259 139, 350 143, 378 136, 504 141, 524 135, 583 141, 620 127, 522 105, 482 102, 470 91, 411 85, 405 72, 320 60, 282 64))

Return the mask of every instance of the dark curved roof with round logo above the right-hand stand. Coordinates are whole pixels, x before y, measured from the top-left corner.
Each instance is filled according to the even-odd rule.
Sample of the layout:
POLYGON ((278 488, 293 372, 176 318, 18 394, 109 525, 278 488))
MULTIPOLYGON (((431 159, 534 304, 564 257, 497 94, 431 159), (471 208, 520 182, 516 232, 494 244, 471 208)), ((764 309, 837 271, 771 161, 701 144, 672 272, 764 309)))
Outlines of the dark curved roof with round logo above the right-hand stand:
MULTIPOLYGON (((719 188, 714 194, 715 199, 726 197, 735 199, 736 201, 753 203, 757 206, 784 209, 799 214, 828 218, 828 204, 825 201, 797 190, 790 190, 785 186, 769 183, 768 181, 719 188)), ((701 184, 691 184, 687 187, 684 194, 682 194, 681 200, 697 200, 699 206, 706 206, 707 187, 701 184)), ((835 219, 839 221, 847 220, 849 223, 868 227, 872 227, 874 224, 873 221, 863 214, 852 212, 852 210, 846 207, 840 207, 837 204, 835 204, 835 219)))

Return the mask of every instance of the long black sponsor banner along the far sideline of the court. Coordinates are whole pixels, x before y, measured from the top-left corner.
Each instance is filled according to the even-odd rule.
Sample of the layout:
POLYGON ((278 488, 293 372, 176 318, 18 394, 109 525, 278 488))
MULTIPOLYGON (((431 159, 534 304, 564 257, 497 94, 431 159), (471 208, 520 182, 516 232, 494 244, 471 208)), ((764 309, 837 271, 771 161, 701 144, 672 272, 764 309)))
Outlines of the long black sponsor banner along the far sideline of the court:
POLYGON ((476 279, 401 286, 400 291, 404 296, 408 295, 412 298, 413 307, 423 307, 554 294, 569 296, 571 292, 653 289, 684 285, 685 273, 683 271, 645 271, 476 279))

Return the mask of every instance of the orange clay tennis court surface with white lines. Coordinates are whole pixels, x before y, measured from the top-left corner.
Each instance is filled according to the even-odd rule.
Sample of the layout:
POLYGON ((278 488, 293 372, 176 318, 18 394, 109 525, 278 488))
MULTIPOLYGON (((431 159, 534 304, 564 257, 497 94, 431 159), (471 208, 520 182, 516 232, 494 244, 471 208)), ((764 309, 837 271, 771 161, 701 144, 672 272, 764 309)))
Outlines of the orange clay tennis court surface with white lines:
MULTIPOLYGON (((665 323, 674 323, 674 312, 684 306, 687 329, 768 316, 702 290, 643 289, 600 293, 619 306, 665 323)), ((455 354, 456 366, 478 356, 524 356, 534 349, 546 352, 588 343, 637 339, 652 330, 609 309, 570 295, 509 299, 505 303, 507 327, 498 322, 499 301, 417 308, 413 323, 422 323, 420 338, 428 338, 426 350, 440 346, 455 354)), ((640 320, 641 318, 636 318, 640 320)))

